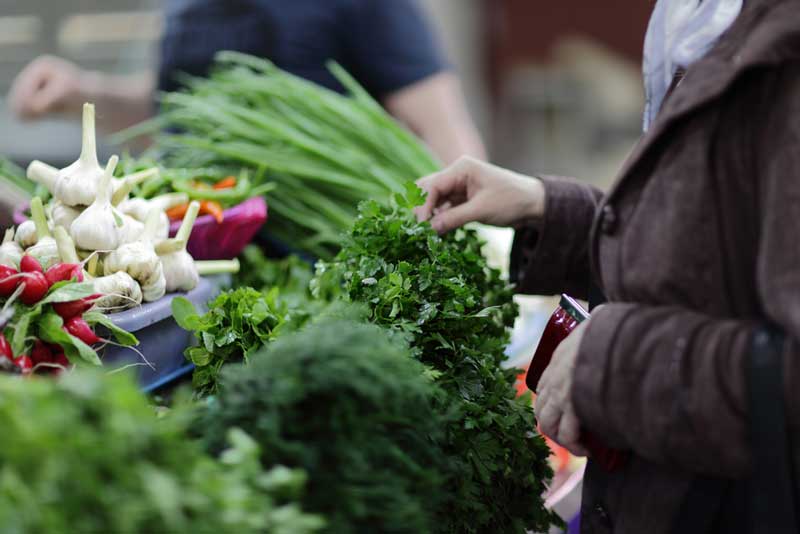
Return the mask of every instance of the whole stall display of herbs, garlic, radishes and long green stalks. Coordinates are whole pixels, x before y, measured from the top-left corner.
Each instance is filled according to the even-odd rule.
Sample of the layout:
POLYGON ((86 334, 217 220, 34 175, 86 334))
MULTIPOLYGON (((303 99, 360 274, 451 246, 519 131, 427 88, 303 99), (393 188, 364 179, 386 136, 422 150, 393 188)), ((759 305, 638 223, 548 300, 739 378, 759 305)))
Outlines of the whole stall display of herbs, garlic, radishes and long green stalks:
POLYGON ((330 68, 348 94, 221 53, 117 135, 153 134, 144 154, 101 165, 86 104, 75 163, 0 173, 30 196, 0 245, 3 525, 560 523, 502 366, 513 288, 475 230, 416 221, 437 162, 330 68))

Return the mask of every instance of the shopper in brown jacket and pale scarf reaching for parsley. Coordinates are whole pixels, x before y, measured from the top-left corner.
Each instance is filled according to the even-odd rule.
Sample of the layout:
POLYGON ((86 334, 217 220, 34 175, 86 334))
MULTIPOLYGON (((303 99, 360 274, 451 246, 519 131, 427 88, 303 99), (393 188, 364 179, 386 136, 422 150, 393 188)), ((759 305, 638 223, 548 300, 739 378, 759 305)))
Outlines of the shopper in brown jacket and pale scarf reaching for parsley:
POLYGON ((786 447, 800 466, 799 23, 796 0, 658 0, 645 134, 608 194, 473 159, 419 182, 418 217, 441 233, 517 229, 519 291, 608 299, 559 345, 536 399, 543 433, 576 454, 582 430, 630 453, 615 471, 590 459, 584 534, 796 532, 791 509, 755 514, 783 501, 766 492, 798 487, 778 483, 791 465, 758 458, 786 447), (769 391, 793 446, 751 443, 765 412, 783 419, 750 398, 765 339, 782 347, 769 391))

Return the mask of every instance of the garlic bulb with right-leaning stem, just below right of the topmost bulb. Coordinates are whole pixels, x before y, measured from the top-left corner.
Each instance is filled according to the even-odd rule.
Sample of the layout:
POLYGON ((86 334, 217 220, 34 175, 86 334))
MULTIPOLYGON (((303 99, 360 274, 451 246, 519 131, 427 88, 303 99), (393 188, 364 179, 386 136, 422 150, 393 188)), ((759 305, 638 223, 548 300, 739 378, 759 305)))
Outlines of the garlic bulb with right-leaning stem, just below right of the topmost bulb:
POLYGON ((122 216, 111 206, 111 175, 119 158, 111 156, 100 183, 97 198, 72 222, 69 233, 84 250, 113 250, 119 246, 122 216))

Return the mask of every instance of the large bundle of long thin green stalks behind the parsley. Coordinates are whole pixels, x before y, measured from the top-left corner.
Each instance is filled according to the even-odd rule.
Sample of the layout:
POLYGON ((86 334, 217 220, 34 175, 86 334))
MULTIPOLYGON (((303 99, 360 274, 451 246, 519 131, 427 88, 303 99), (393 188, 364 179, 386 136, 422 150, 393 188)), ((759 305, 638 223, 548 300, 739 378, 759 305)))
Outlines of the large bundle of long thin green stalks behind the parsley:
POLYGON ((362 200, 388 201, 438 164, 410 132, 339 65, 348 96, 235 52, 217 55, 210 77, 187 78, 162 96, 162 114, 118 137, 169 128, 156 146, 172 167, 246 167, 270 193, 269 232, 330 258, 362 200))

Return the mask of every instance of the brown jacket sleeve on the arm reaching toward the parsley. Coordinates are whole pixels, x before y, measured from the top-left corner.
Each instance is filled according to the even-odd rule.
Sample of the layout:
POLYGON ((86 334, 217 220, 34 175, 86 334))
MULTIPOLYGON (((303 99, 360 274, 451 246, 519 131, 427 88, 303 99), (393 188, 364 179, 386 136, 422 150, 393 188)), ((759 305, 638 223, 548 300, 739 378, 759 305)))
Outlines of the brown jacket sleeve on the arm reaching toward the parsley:
POLYGON ((541 177, 545 212, 516 228, 511 280, 526 294, 569 293, 585 299, 590 285, 589 234, 603 194, 578 181, 541 177))

